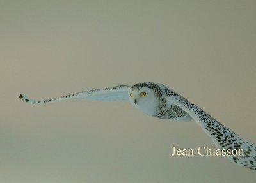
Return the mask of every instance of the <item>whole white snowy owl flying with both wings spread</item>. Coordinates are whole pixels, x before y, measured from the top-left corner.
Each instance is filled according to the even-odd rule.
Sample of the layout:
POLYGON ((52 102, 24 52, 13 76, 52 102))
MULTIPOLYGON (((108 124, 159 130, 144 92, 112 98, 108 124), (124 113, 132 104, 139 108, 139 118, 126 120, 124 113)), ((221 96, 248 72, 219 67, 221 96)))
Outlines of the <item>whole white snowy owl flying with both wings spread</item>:
POLYGON ((216 121, 201 108, 163 84, 143 82, 133 86, 119 85, 45 100, 30 99, 22 94, 19 98, 33 104, 67 99, 126 100, 130 101, 131 105, 138 110, 160 119, 172 119, 173 121, 191 121, 193 119, 221 150, 243 149, 243 155, 227 155, 228 159, 239 166, 247 166, 256 170, 256 147, 253 143, 243 140, 232 129, 216 121))

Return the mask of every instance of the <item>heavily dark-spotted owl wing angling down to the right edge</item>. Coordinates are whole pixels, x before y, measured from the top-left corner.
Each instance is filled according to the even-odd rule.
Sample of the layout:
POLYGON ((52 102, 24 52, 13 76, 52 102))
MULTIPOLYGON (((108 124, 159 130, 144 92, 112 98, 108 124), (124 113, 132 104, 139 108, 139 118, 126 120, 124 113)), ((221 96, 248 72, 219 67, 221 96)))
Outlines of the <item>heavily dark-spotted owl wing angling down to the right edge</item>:
POLYGON ((221 150, 243 149, 243 155, 228 155, 228 159, 239 166, 248 166, 248 168, 256 170, 256 147, 253 143, 243 140, 230 128, 216 121, 216 119, 182 96, 167 96, 166 100, 187 112, 221 150))

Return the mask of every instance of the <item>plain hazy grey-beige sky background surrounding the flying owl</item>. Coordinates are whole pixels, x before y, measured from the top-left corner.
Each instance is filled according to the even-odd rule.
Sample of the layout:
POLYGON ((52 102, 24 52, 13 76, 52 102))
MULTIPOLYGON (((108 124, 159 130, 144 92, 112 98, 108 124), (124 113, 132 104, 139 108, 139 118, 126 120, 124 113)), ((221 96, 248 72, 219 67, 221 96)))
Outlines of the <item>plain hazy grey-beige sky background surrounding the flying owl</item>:
POLYGON ((256 143, 256 1, 0 1, 0 182, 255 182, 195 122, 127 102, 29 105, 160 82, 256 143))

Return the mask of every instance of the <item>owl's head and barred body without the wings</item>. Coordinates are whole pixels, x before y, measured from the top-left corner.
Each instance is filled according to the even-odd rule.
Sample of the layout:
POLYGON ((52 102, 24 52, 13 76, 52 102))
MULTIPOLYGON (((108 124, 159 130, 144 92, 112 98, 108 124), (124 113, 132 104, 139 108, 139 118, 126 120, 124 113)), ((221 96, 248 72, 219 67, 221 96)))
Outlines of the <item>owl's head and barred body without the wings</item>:
POLYGON ((132 106, 152 117, 174 121, 191 121, 192 118, 188 113, 170 101, 166 101, 165 96, 167 94, 179 95, 166 85, 144 82, 131 87, 129 101, 132 106), (141 92, 147 93, 147 98, 140 96, 141 92))

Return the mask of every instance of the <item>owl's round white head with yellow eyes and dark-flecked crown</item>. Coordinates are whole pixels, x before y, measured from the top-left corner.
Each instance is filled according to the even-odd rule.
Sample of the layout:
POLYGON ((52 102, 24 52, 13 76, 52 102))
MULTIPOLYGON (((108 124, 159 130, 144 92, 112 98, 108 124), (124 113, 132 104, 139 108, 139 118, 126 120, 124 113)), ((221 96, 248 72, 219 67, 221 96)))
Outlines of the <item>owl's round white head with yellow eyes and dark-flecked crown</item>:
POLYGON ((156 106, 159 105, 156 86, 152 87, 152 84, 149 82, 133 85, 129 89, 128 95, 131 105, 148 115, 154 114, 156 106))

